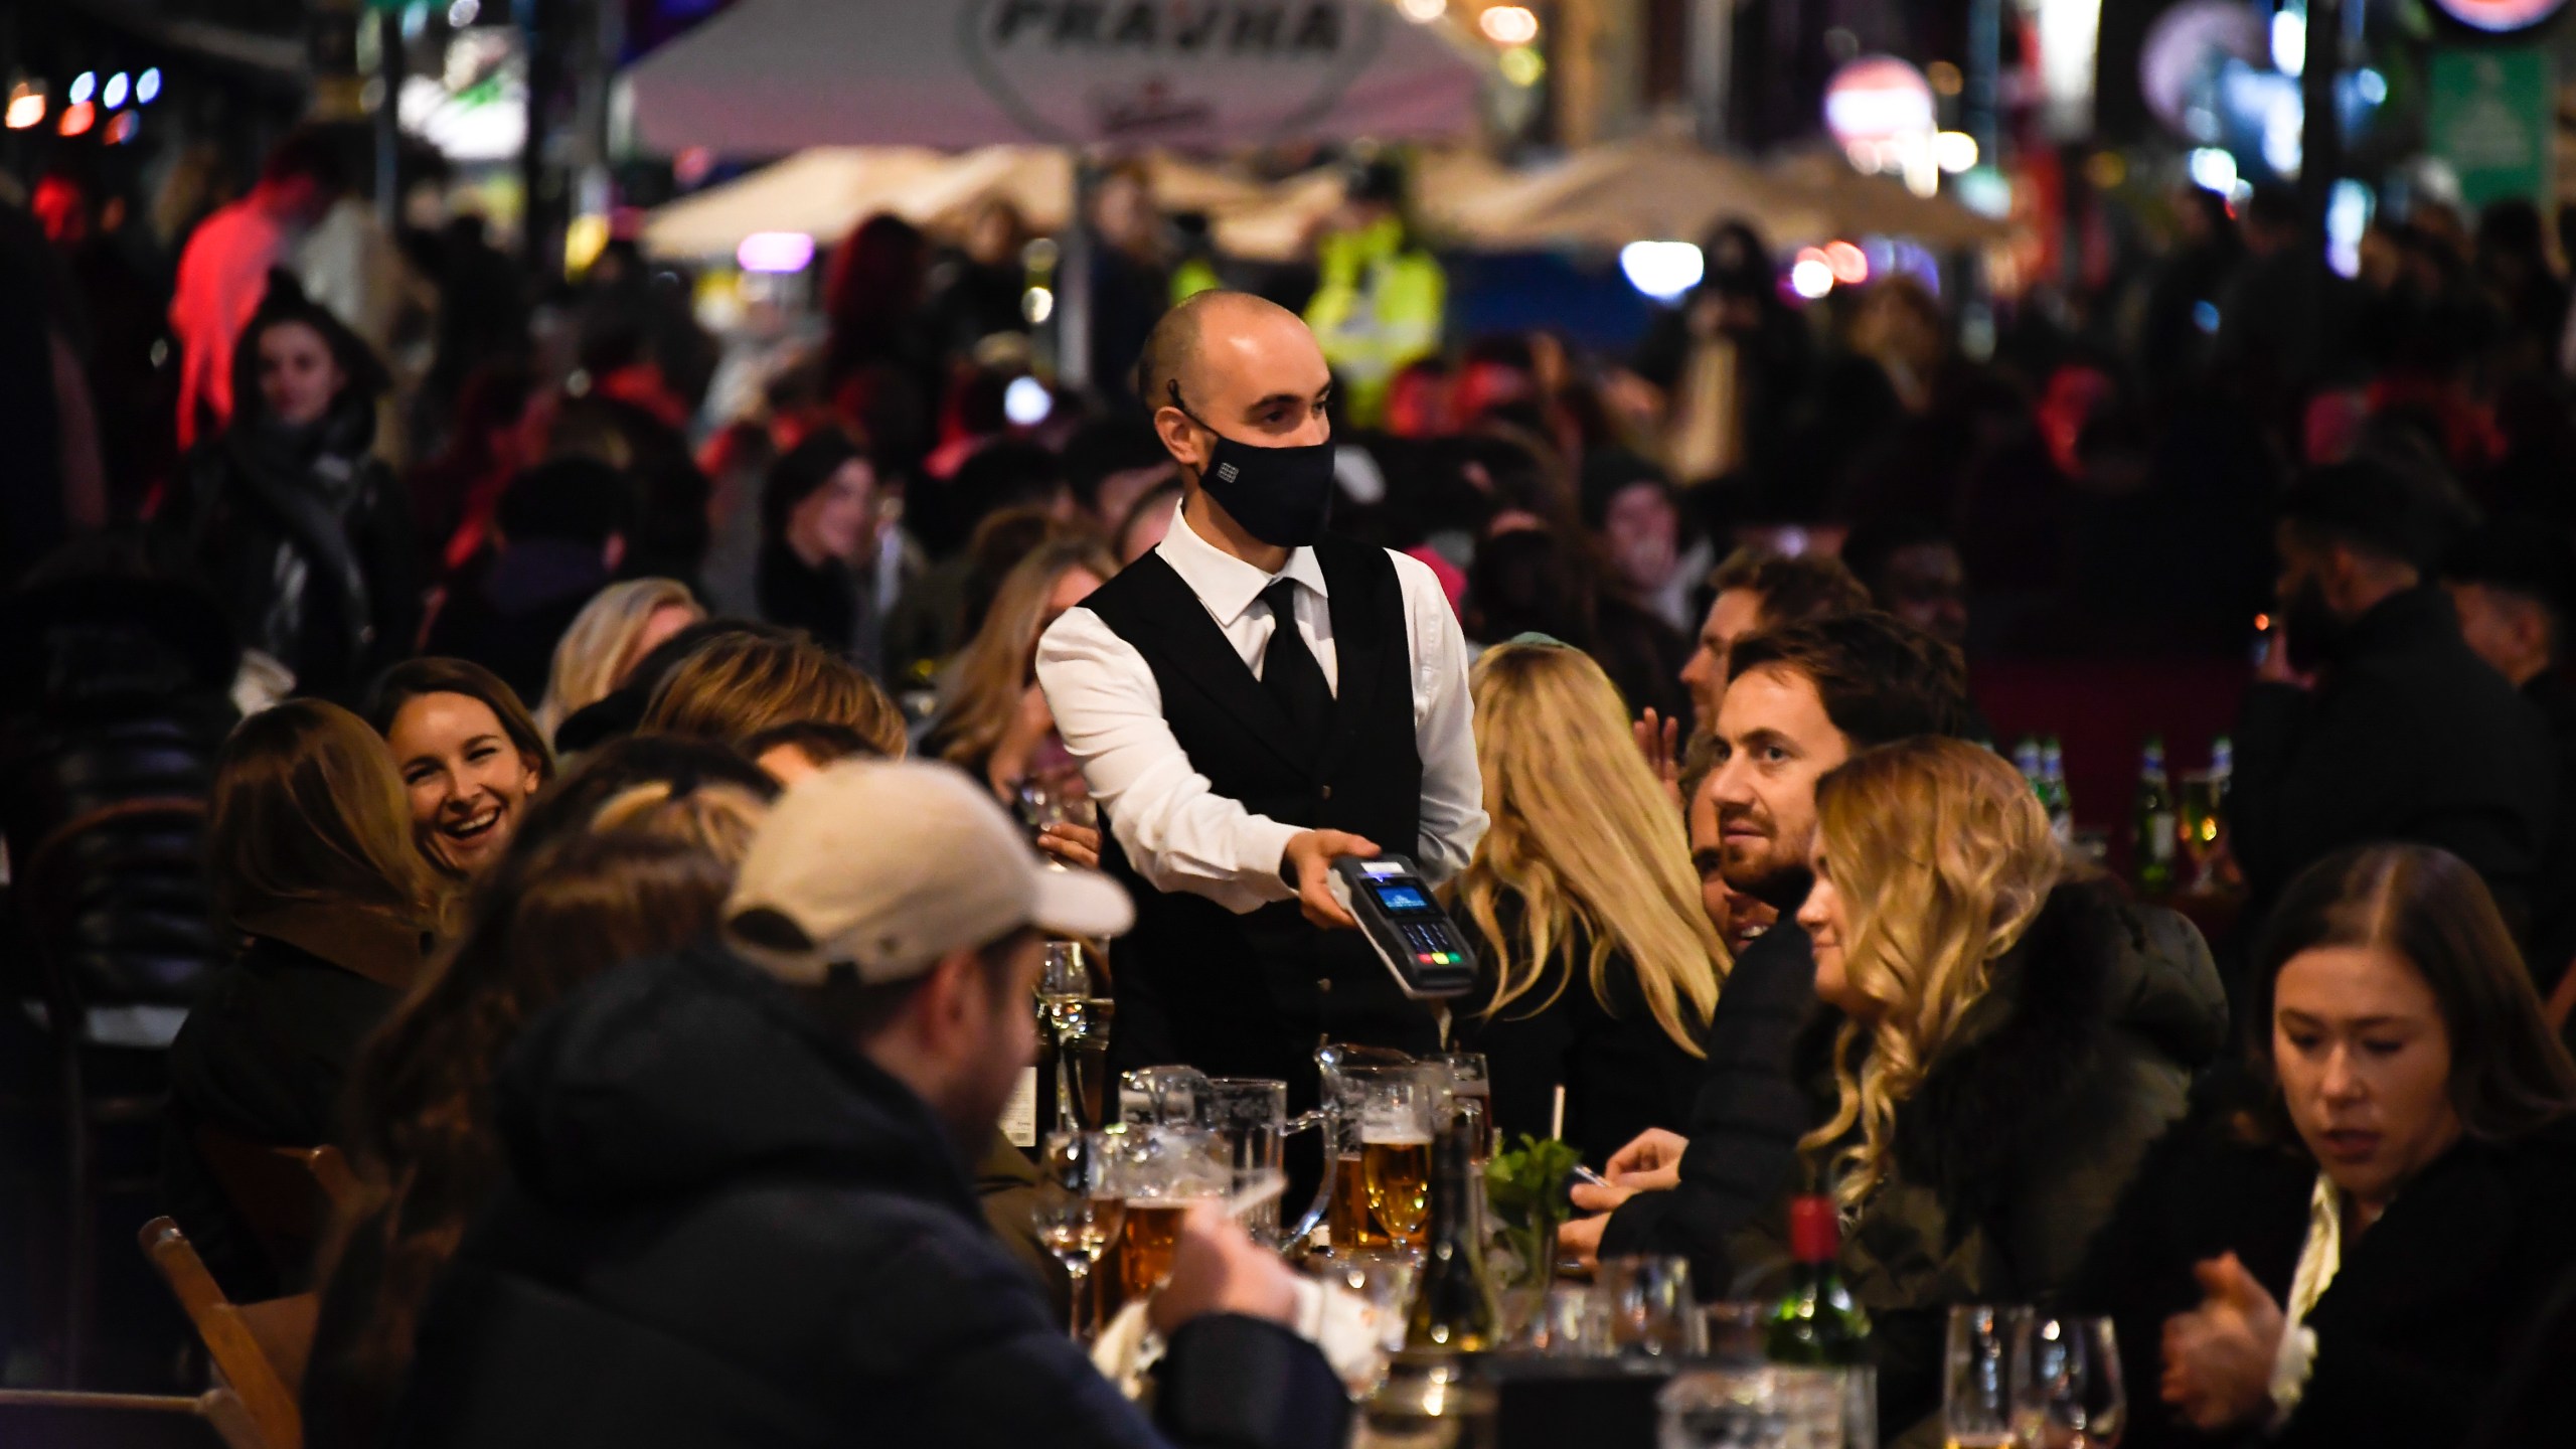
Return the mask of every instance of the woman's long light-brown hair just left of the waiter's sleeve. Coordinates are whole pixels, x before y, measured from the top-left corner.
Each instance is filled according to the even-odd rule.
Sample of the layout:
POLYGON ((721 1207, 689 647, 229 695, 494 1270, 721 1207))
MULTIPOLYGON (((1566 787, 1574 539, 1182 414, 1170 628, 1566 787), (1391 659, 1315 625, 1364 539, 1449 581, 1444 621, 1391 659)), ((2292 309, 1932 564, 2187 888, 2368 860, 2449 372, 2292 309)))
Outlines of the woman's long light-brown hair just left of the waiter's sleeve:
POLYGON ((1038 544, 1012 565, 984 627, 958 652, 956 681, 922 753, 981 779, 1002 804, 1028 776, 1079 789, 1082 771, 1064 753, 1038 688, 1038 634, 1113 572, 1118 559, 1087 534, 1038 544))

